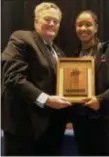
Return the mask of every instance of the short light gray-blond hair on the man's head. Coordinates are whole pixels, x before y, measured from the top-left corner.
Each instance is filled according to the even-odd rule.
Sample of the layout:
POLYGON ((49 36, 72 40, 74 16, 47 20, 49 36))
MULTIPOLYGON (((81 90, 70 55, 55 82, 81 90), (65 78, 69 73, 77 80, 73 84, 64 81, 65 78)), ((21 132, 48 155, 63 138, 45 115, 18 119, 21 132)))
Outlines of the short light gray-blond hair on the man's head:
POLYGON ((40 14, 42 13, 42 11, 44 10, 48 10, 50 8, 54 8, 59 12, 59 16, 60 16, 60 20, 62 18, 62 12, 60 10, 60 8, 52 2, 42 2, 39 5, 37 5, 34 9, 34 15, 36 18, 38 18, 40 16, 40 14))

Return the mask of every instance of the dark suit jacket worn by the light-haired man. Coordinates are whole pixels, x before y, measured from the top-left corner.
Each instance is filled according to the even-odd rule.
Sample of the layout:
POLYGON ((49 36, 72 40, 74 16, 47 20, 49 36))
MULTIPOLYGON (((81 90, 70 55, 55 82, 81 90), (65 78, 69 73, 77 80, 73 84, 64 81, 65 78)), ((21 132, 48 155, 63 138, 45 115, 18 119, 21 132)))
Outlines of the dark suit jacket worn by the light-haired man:
MULTIPOLYGON (((64 56, 53 47, 59 57, 64 56)), ((64 110, 42 109, 35 104, 41 92, 53 95, 55 90, 56 71, 43 40, 35 31, 14 32, 2 53, 2 129, 38 138, 51 119, 63 125, 64 110)))

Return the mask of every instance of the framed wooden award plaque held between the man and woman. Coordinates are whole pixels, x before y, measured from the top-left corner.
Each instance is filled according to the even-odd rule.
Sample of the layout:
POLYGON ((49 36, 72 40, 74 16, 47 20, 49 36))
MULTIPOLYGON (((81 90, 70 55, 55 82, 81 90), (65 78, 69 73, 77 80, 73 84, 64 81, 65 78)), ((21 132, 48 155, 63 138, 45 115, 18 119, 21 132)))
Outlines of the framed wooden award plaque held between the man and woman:
POLYGON ((57 62, 57 95, 82 103, 95 94, 94 59, 61 58, 57 62))

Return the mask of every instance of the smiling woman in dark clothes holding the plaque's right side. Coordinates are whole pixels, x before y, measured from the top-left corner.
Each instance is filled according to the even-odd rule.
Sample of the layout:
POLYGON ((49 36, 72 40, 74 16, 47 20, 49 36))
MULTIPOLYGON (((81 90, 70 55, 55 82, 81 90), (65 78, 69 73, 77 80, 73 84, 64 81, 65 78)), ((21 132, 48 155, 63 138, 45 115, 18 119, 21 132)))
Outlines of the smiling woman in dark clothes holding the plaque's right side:
POLYGON ((95 60, 95 96, 72 105, 71 118, 80 155, 109 155, 109 42, 97 37, 97 16, 89 10, 76 18, 80 41, 73 57, 95 60))

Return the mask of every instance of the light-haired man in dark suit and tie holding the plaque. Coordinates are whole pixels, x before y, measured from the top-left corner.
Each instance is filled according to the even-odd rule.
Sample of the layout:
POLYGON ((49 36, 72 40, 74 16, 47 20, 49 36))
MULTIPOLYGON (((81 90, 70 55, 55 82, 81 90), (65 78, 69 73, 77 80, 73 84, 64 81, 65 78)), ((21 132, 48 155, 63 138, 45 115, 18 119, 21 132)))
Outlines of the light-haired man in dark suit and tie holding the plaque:
POLYGON ((53 44, 62 13, 54 3, 35 8, 35 31, 14 32, 2 53, 4 155, 60 155, 65 129, 64 97, 56 96, 53 44))

